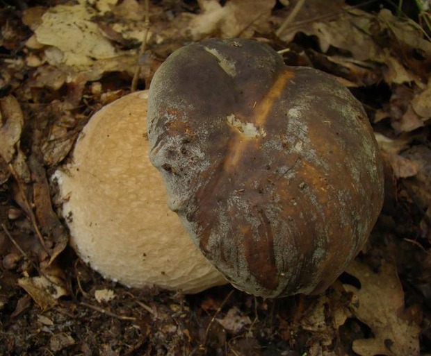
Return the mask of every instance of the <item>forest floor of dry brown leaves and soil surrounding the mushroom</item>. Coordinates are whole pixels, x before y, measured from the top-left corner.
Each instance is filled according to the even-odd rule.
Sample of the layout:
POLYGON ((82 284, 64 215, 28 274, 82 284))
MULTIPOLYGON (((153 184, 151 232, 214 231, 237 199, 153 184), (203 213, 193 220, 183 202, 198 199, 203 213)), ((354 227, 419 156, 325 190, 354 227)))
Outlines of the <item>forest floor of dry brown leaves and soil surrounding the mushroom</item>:
POLYGON ((297 3, 150 1, 139 56, 143 1, 0 1, 0 355, 431 355, 430 2, 306 1, 286 22, 297 3), (322 295, 129 289, 68 245, 49 178, 83 126, 130 92, 137 65, 143 90, 172 51, 207 37, 267 43, 366 109, 384 207, 322 295))

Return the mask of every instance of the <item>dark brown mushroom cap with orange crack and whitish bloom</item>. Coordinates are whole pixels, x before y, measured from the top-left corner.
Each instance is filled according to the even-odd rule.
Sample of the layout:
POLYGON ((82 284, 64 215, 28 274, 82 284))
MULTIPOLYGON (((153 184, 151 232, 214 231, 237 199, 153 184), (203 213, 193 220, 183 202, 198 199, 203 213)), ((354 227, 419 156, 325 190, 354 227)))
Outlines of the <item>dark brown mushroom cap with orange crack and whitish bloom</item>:
POLYGON ((383 174, 359 101, 266 44, 206 40, 161 65, 150 160, 206 257, 257 296, 318 293, 361 250, 383 174))

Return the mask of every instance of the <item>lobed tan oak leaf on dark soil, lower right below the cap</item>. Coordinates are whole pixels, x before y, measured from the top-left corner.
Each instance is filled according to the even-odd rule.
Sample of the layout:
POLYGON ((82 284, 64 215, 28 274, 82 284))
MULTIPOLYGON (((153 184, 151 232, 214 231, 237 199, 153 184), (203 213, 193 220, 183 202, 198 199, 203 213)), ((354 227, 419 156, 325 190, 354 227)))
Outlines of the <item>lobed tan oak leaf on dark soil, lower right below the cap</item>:
POLYGON ((358 278, 361 288, 343 285, 357 296, 351 308, 357 318, 373 330, 374 338, 353 341, 353 350, 361 356, 419 355, 421 328, 405 316, 404 292, 396 266, 382 262, 380 273, 354 261, 347 272, 358 278))

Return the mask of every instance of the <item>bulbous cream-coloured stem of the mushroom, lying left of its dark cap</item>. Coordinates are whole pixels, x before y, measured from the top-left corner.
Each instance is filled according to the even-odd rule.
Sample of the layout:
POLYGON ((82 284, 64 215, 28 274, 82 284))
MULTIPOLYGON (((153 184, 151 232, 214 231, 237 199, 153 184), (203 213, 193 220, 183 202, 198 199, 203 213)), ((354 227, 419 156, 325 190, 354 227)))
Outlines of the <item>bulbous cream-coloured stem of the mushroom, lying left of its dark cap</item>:
POLYGON ((123 285, 193 294, 225 284, 166 206, 163 180, 148 158, 147 97, 135 92, 99 110, 72 162, 56 171, 71 244, 123 285))

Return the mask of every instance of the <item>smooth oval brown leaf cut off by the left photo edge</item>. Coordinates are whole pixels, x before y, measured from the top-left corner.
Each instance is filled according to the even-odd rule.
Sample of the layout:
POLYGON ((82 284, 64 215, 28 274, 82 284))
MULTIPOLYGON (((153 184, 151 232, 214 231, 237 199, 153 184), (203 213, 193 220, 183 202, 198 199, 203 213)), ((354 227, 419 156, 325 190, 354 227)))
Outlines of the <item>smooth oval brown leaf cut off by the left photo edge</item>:
POLYGON ((0 99, 0 155, 10 163, 15 155, 15 145, 21 138, 24 116, 15 97, 12 95, 0 99))

